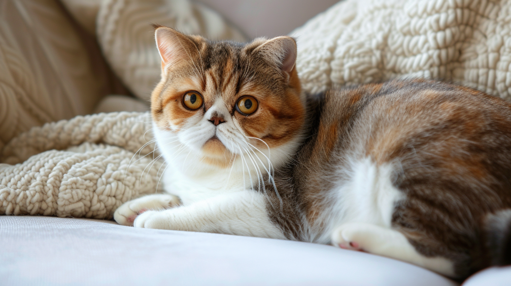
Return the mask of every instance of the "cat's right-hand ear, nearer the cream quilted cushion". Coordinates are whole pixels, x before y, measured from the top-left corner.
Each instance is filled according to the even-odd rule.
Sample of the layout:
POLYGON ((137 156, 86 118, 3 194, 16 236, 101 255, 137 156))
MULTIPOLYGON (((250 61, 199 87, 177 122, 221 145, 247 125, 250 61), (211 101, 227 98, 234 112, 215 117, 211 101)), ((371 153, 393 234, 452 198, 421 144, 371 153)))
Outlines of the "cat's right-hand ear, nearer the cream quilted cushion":
POLYGON ((296 63, 296 41, 293 38, 282 36, 267 40, 258 50, 289 76, 296 63))

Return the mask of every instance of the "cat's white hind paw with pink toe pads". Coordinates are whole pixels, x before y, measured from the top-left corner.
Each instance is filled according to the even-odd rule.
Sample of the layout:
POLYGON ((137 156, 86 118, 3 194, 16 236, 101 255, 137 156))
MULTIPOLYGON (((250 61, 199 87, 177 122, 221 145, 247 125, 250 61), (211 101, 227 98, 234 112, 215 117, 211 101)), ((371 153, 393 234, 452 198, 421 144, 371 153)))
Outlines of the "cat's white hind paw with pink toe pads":
POLYGON ((364 223, 345 223, 332 232, 332 244, 334 246, 370 252, 372 248, 373 229, 364 223))

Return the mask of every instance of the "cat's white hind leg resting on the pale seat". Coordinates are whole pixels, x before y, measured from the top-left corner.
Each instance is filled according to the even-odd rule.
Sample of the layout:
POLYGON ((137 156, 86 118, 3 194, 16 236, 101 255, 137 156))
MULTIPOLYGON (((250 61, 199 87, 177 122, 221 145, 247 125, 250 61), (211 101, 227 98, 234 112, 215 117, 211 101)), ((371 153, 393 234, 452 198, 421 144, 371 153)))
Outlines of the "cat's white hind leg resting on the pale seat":
POLYGON ((417 266, 454 276, 453 263, 444 257, 427 257, 415 250, 403 233, 368 223, 345 223, 332 233, 332 244, 344 249, 399 259, 417 266))

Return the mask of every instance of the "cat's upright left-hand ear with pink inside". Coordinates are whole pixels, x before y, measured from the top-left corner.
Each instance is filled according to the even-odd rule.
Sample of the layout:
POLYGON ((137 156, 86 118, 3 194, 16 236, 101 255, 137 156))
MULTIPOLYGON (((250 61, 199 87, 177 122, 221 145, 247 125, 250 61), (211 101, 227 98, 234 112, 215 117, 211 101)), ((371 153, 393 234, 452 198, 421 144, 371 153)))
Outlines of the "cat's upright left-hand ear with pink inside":
POLYGON ((195 43, 187 36, 168 27, 155 26, 154 28, 154 38, 162 68, 188 59, 197 52, 195 43))

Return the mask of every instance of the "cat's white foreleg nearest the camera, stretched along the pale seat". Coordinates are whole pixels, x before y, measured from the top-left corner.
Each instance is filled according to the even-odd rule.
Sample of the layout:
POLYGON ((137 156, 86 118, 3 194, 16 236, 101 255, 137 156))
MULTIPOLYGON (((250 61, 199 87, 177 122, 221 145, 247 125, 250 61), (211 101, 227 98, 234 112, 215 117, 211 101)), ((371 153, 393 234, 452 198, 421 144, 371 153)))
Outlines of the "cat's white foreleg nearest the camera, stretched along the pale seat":
POLYGON ((271 222, 266 201, 256 191, 240 191, 170 210, 147 211, 135 219, 134 226, 285 239, 271 222))

